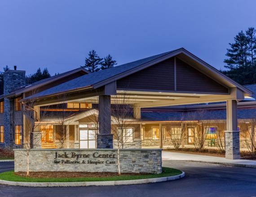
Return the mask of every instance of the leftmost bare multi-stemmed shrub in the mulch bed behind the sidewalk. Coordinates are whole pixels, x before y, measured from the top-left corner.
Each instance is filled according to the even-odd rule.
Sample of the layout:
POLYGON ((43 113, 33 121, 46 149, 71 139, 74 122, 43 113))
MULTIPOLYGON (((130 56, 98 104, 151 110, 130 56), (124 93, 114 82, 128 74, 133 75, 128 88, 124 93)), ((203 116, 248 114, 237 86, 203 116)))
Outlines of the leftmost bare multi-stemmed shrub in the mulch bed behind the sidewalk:
POLYGON ((176 150, 178 150, 181 146, 182 141, 184 140, 186 124, 181 121, 180 124, 176 124, 173 126, 172 124, 168 124, 166 126, 166 130, 171 137, 172 144, 176 150))

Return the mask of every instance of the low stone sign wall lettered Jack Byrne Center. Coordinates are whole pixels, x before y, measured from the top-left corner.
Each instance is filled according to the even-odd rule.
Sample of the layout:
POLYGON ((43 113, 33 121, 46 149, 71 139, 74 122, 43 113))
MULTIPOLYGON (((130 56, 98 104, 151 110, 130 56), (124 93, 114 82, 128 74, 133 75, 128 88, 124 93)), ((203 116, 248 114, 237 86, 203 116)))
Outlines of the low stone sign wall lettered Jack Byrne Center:
MULTIPOLYGON (((14 150, 15 172, 26 171, 25 153, 23 149, 14 150)), ((29 161, 30 171, 118 171, 116 149, 32 149, 29 161), (56 154, 62 155, 63 158, 55 159, 56 154), (72 158, 72 154, 79 154, 81 158, 80 156, 78 159, 72 158), (96 156, 108 154, 109 157, 94 158, 93 154, 96 156)), ((160 149, 121 149, 120 169, 123 173, 159 174, 162 172, 162 151, 160 149)))

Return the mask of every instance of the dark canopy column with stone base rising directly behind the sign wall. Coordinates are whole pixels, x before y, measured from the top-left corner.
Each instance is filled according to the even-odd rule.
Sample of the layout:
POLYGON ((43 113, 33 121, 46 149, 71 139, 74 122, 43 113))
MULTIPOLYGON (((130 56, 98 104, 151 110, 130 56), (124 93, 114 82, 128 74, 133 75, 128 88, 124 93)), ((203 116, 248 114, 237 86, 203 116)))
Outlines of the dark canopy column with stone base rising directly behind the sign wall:
POLYGON ((99 133, 97 134, 98 149, 113 148, 111 134, 111 98, 110 95, 99 96, 99 133))

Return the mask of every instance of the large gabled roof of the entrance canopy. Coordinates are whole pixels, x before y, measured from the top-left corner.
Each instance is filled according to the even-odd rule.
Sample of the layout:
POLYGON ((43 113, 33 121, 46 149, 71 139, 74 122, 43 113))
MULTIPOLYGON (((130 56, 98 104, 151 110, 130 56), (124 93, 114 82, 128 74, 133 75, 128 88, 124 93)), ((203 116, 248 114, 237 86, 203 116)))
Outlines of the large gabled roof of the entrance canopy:
POLYGON ((48 90, 44 90, 38 94, 34 94, 31 97, 28 97, 27 99, 51 96, 53 94, 82 90, 89 87, 96 89, 100 86, 104 86, 112 81, 116 81, 122 77, 126 77, 132 73, 145 69, 151 65, 157 64, 163 60, 167 60, 168 58, 177 56, 179 54, 183 54, 186 57, 189 57, 191 60, 196 61, 198 64, 201 65, 200 69, 202 69, 202 71, 204 69, 204 71, 207 70, 208 72, 215 74, 218 77, 218 79, 221 79, 221 82, 224 82, 226 85, 238 87, 240 90, 243 90, 247 94, 252 94, 250 90, 233 81, 229 77, 226 77, 223 73, 221 73, 211 65, 205 63, 198 57, 194 56, 189 51, 185 50, 184 48, 179 48, 177 50, 168 51, 156 56, 151 56, 127 64, 122 64, 114 68, 101 70, 99 72, 90 73, 88 75, 77 77, 71 81, 67 81, 48 90))

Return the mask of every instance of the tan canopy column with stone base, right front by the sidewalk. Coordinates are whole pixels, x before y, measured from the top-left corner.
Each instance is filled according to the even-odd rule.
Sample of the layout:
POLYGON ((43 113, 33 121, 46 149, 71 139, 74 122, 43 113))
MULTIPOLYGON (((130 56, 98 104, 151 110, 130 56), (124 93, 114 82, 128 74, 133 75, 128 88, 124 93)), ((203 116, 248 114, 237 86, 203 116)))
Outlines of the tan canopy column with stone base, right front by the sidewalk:
POLYGON ((227 130, 225 131, 227 159, 240 158, 239 131, 237 130, 237 101, 227 101, 227 130))

